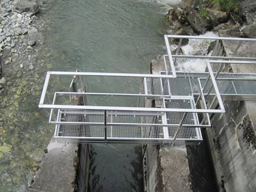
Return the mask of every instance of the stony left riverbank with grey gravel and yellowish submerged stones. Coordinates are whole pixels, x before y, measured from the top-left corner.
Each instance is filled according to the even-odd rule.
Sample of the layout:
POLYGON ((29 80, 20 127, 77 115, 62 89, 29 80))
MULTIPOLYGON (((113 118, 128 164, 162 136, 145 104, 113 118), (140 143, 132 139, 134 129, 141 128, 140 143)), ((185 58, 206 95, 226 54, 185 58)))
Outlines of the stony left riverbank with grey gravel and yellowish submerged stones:
POLYGON ((26 191, 51 139, 38 100, 50 54, 38 1, 0 2, 0 191, 26 191))

